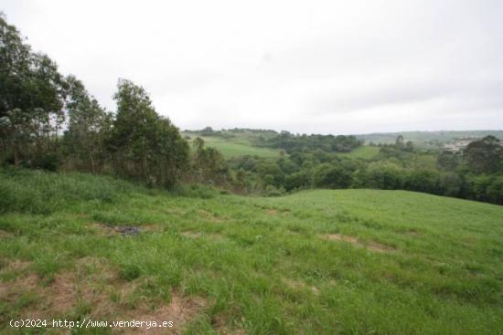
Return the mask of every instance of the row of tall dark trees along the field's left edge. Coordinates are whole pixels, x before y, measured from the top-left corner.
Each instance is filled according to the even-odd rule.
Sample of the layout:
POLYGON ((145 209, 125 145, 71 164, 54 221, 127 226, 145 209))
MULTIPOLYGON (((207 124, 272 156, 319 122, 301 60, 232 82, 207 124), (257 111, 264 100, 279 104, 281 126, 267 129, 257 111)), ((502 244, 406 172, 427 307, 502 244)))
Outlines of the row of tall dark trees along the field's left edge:
MULTIPOLYGON (((0 158, 4 164, 56 171, 113 173, 173 187, 199 164, 223 160, 189 144, 159 115, 144 88, 119 79, 115 113, 74 76, 63 76, 47 55, 34 52, 0 15, 0 158)), ((202 169, 206 171, 206 167, 202 169)), ((210 173, 205 172, 205 177, 210 173)))

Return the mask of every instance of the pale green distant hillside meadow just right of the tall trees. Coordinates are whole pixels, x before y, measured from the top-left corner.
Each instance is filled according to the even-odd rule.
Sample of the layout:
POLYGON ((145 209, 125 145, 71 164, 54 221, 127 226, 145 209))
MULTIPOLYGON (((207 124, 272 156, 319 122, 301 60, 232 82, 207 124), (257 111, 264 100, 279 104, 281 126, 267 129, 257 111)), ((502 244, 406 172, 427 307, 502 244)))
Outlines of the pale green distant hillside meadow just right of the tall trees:
POLYGON ((191 139, 200 137, 203 139, 207 146, 213 147, 219 150, 225 158, 232 158, 237 156, 251 155, 259 157, 280 157, 279 150, 273 150, 270 148, 254 147, 250 140, 244 136, 236 137, 231 139, 222 139, 213 136, 197 136, 192 133, 184 133, 188 135, 191 139))

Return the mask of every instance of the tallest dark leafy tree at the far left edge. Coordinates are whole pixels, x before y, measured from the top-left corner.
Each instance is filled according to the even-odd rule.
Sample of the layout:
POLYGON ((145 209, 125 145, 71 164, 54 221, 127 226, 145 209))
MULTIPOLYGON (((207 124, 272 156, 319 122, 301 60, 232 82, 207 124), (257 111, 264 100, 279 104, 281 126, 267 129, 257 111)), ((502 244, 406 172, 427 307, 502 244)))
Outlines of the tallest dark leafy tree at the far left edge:
POLYGON ((14 163, 37 167, 56 152, 64 113, 65 82, 48 56, 33 53, 0 14, 0 137, 14 163))

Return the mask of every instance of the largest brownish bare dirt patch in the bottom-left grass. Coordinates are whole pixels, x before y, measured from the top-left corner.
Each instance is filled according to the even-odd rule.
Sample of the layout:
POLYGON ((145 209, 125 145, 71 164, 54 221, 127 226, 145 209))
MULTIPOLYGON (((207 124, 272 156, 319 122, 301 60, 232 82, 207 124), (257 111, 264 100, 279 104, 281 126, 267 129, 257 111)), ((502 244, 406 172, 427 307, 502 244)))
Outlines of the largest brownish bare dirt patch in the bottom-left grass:
MULTIPOLYGON (((27 268, 28 262, 13 261, 9 268, 27 268)), ((76 269, 59 272, 50 283, 27 273, 15 280, 0 282, 0 300, 14 304, 23 294, 32 294, 33 302, 21 312, 25 316, 38 319, 59 318, 67 315, 80 303, 91 307, 95 319, 119 318, 162 322, 173 321, 171 329, 156 328, 114 329, 119 333, 180 334, 184 323, 192 319, 206 306, 203 298, 185 298, 177 292, 172 293, 171 301, 166 304, 158 300, 141 297, 133 304, 125 301, 137 295, 140 282, 123 282, 116 273, 107 267, 104 260, 84 257, 76 262, 76 269), (115 295, 115 298, 112 296, 115 295), (153 308, 154 307, 154 308, 153 308)))

